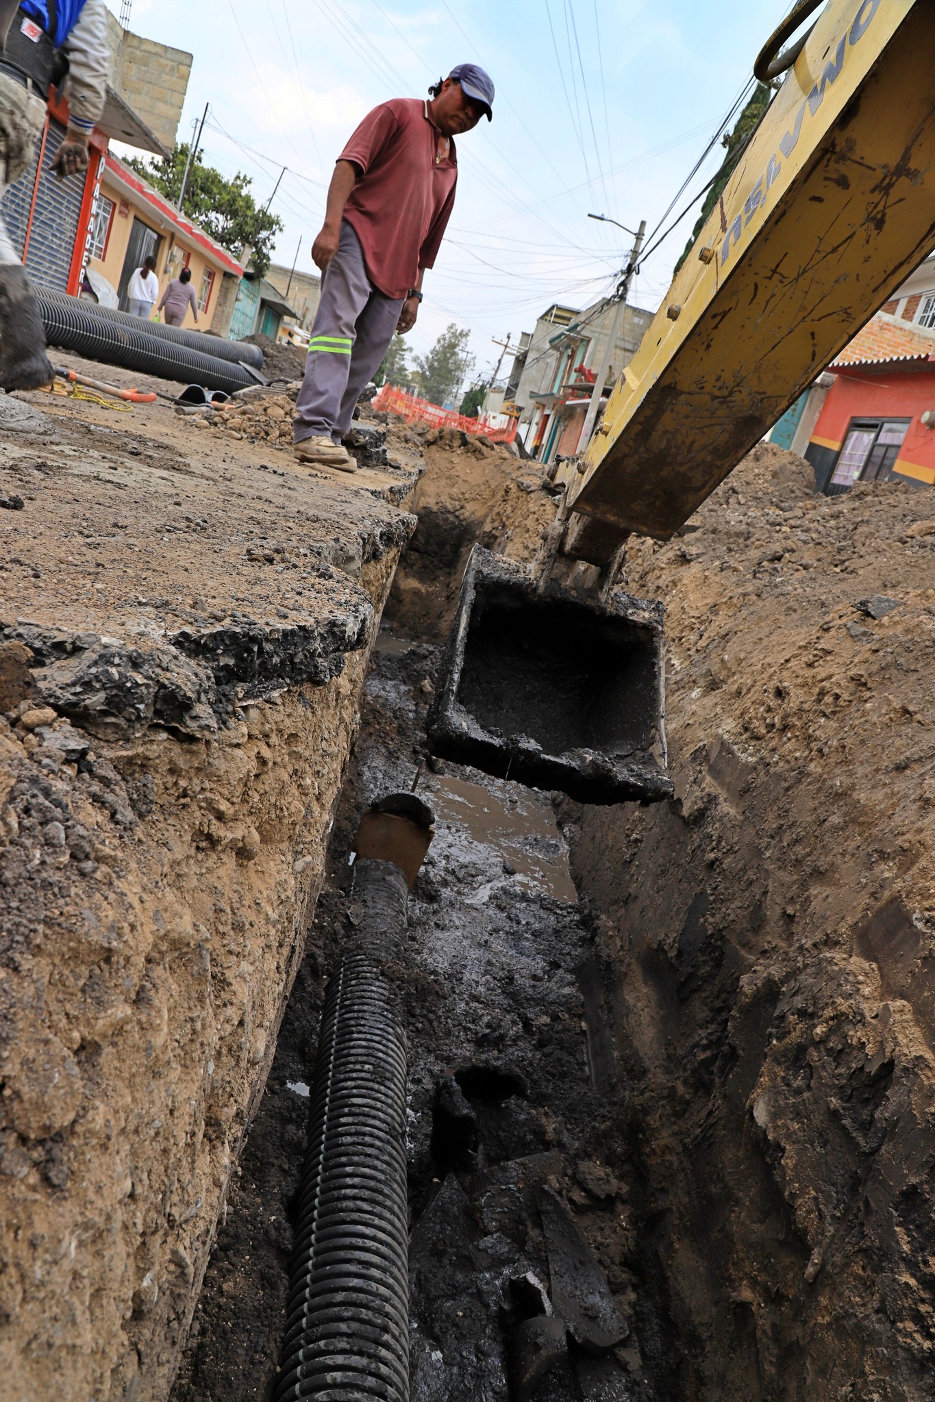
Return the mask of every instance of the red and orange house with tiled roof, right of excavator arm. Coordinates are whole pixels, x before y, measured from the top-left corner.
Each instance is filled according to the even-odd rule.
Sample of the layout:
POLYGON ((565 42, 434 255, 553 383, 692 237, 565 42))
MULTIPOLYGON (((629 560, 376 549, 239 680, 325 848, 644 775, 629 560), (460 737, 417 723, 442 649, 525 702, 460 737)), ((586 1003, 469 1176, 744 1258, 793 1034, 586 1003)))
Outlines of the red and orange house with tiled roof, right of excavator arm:
POLYGON ((935 255, 906 279, 770 433, 835 495, 856 481, 935 485, 935 255))

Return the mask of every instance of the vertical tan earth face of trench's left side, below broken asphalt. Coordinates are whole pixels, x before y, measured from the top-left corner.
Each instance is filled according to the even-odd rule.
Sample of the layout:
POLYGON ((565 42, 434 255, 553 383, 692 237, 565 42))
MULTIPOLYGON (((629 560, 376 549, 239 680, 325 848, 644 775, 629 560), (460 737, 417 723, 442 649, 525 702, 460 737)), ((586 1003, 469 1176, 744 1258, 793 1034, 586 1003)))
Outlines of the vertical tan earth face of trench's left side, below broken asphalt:
MULTIPOLYGON (((336 651, 299 659, 304 680, 290 680, 286 639, 282 681, 240 687, 251 700, 221 725, 185 695, 178 725, 164 709, 146 725, 83 729, 74 669, 87 681, 104 644, 130 694, 147 680, 133 667, 154 669, 170 711, 174 687, 210 677, 175 653, 178 674, 160 680, 165 649, 122 655, 119 639, 87 635, 69 644, 73 658, 34 667, 31 700, 0 719, 4 1395, 168 1394, 301 958, 369 646, 412 524, 395 513, 369 543, 336 651)), ((41 646, 39 632, 25 637, 41 646)), ((258 639, 241 642, 245 666, 258 639)), ((8 705, 24 659, 42 659, 15 638, 0 651, 8 705)), ((238 659, 210 660, 224 672, 238 659)))

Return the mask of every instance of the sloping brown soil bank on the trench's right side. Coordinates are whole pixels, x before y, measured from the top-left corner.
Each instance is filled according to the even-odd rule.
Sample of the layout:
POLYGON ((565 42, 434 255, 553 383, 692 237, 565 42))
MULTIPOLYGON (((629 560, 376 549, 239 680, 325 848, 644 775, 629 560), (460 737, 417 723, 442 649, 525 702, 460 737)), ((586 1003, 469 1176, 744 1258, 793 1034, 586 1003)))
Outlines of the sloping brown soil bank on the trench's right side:
POLYGON ((935 498, 760 447, 628 587, 676 799, 572 809, 663 1395, 935 1396, 935 498))

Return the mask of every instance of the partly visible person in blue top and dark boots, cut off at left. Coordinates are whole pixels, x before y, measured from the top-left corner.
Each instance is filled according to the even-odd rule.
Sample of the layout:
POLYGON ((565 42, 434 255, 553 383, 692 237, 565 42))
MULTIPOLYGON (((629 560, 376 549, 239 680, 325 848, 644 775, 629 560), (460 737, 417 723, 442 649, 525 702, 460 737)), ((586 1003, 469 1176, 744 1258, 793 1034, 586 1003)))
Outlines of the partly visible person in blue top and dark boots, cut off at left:
MULTIPOLYGON (((104 0, 0 0, 0 199, 32 161, 49 87, 63 84, 69 101, 52 170, 59 179, 84 174, 107 66, 104 0)), ((35 293, 0 219, 0 387, 35 390, 53 379, 35 293)))

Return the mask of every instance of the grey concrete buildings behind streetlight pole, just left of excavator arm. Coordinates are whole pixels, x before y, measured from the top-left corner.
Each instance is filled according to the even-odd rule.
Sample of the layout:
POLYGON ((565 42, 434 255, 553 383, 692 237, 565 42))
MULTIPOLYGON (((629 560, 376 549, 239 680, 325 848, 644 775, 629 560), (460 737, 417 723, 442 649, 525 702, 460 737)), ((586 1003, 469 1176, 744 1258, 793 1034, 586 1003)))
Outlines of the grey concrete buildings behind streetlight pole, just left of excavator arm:
MULTIPOLYGON (((519 411, 520 436, 526 450, 542 463, 557 454, 571 456, 579 439, 587 405, 611 334, 617 303, 601 299, 578 311, 554 303, 535 322, 535 329, 520 338, 502 411, 519 411)), ((604 388, 629 363, 653 318, 642 307, 624 307, 617 329, 617 345, 606 376, 604 388)), ((583 444, 582 444, 583 446, 583 444)))

